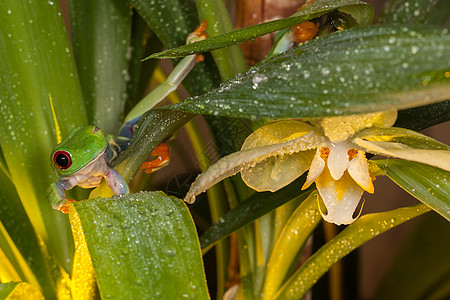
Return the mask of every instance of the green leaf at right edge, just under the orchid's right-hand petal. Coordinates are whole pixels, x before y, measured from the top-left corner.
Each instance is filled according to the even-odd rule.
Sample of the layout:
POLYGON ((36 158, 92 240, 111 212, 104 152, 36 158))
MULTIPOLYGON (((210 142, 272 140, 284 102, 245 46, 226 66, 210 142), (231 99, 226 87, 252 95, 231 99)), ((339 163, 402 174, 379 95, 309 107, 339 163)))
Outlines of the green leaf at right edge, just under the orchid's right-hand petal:
POLYGON ((450 221, 450 172, 407 160, 372 160, 402 189, 450 221))

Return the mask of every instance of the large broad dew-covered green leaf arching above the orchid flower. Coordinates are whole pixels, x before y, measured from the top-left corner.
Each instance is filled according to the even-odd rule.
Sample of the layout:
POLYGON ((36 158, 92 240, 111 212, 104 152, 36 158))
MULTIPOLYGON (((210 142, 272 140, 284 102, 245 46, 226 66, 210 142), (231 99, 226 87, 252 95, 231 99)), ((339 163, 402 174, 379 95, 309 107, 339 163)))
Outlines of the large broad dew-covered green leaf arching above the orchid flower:
POLYGON ((312 118, 448 99, 450 34, 418 26, 336 32, 269 59, 175 109, 242 118, 312 118))

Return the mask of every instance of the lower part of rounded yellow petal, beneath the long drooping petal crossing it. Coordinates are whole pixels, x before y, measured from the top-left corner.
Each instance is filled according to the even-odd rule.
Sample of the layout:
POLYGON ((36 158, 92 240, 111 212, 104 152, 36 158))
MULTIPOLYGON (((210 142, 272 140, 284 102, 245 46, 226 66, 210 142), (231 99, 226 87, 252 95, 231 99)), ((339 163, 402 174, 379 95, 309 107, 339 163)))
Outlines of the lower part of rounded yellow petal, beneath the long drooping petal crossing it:
POLYGON ((311 165, 314 150, 265 159, 241 171, 245 184, 258 192, 277 191, 300 177, 311 165))

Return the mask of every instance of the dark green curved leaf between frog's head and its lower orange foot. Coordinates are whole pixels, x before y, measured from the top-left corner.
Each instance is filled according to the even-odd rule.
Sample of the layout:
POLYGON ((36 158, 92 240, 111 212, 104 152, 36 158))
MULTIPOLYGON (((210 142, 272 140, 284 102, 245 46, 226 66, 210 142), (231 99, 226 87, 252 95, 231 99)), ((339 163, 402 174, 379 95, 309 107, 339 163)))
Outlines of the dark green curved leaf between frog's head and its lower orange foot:
POLYGON ((134 129, 130 146, 116 166, 117 171, 130 182, 149 153, 194 117, 192 114, 165 108, 145 113, 134 129))

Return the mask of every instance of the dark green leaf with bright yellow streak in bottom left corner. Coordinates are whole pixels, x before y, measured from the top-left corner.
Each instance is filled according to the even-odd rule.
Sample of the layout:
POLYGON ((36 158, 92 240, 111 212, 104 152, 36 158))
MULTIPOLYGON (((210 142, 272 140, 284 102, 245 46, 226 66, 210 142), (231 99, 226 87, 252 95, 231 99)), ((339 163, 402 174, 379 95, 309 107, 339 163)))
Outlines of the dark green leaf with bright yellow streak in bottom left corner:
MULTIPOLYGON (((41 252, 40 241, 20 202, 10 179, 0 170, 0 227, 7 234, 0 249, 11 253, 7 256, 23 280, 42 288, 47 298, 55 296, 52 278, 41 252)), ((4 233, 4 232, 2 232, 4 233)), ((2 235, 0 233, 0 235, 2 235)))

